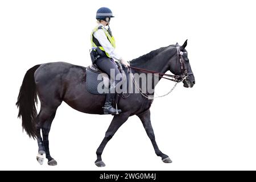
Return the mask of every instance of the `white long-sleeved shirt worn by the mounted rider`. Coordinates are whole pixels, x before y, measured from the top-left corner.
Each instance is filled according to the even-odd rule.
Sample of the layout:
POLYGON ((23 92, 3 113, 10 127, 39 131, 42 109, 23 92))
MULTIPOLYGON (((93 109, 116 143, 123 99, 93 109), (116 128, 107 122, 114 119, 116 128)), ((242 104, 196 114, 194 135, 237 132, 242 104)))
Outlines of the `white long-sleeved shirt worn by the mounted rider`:
MULTIPOLYGON (((104 26, 104 25, 99 23, 98 26, 104 26)), ((116 60, 122 59, 122 57, 119 56, 118 53, 115 51, 115 48, 109 42, 109 39, 107 38, 105 32, 102 29, 95 31, 93 33, 93 36, 98 40, 98 42, 101 44, 104 50, 109 54, 110 57, 113 57, 116 60)))

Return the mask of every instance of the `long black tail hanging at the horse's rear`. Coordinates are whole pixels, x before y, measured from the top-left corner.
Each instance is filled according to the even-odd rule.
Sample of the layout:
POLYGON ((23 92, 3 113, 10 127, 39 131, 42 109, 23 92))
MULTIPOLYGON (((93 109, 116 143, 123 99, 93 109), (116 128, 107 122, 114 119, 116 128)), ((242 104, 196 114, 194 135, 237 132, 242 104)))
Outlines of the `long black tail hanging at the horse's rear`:
POLYGON ((35 65, 28 69, 26 75, 23 78, 22 85, 20 86, 18 100, 16 106, 19 108, 18 118, 22 117, 22 127, 29 137, 36 138, 35 118, 38 114, 36 111, 36 104, 38 104, 38 98, 36 93, 36 84, 34 73, 36 69, 40 67, 35 65))

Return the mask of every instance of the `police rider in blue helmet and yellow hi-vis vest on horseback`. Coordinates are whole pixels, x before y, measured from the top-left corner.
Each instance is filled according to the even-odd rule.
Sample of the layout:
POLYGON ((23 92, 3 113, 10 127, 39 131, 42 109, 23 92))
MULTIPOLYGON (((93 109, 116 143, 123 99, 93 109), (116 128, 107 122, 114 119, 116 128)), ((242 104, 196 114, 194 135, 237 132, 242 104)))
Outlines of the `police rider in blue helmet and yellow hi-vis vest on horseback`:
MULTIPOLYGON (((96 14, 96 19, 98 25, 93 29, 91 34, 92 49, 100 48, 103 51, 103 54, 98 58, 94 63, 105 73, 107 73, 112 80, 115 80, 115 77, 110 75, 110 69, 114 70, 114 76, 121 74, 115 64, 116 59, 124 64, 126 67, 129 66, 127 61, 123 60, 121 56, 115 51, 115 39, 112 35, 112 32, 109 28, 110 18, 113 18, 112 11, 108 7, 101 7, 98 9, 96 14), (108 28, 106 27, 108 26, 108 28)), ((113 73, 112 73, 113 74, 113 73)), ((119 80, 121 81, 121 80, 119 80)), ((106 94, 106 101, 104 105, 104 114, 117 114, 121 110, 116 110, 112 106, 112 102, 115 96, 115 84, 110 84, 110 92, 106 94)))

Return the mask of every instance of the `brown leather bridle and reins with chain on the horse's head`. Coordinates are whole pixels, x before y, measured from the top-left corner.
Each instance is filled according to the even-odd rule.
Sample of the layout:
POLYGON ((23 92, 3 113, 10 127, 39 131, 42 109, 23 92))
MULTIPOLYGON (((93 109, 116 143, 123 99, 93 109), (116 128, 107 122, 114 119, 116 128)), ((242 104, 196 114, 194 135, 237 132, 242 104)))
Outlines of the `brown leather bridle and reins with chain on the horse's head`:
POLYGON ((181 75, 170 75, 170 74, 166 74, 166 73, 151 71, 151 70, 148 70, 148 69, 142 69, 142 68, 128 66, 128 73, 131 73, 131 75, 132 75, 131 79, 133 80, 135 87, 138 89, 139 93, 143 97, 147 98, 148 100, 153 100, 154 98, 164 97, 164 96, 167 96, 168 94, 170 94, 175 89, 176 85, 179 82, 186 81, 187 84, 189 85, 189 82, 186 80, 186 78, 189 75, 192 75, 193 73, 192 72, 188 73, 188 71, 187 71, 187 68, 185 66, 184 59, 183 59, 183 54, 184 54, 183 51, 180 51, 180 47, 176 47, 176 49, 177 49, 177 59, 180 62, 181 75), (142 89, 139 87, 139 85, 135 81, 134 76, 133 76, 133 72, 131 71, 131 69, 135 69, 135 70, 138 70, 138 71, 141 71, 141 72, 144 72, 144 73, 158 74, 159 77, 167 79, 167 80, 174 81, 176 83, 175 83, 174 87, 168 93, 166 93, 162 96, 157 96, 157 97, 148 96, 146 93, 142 92, 142 89), (164 76, 166 76, 166 77, 164 77, 164 76), (171 77, 171 78, 168 78, 168 77, 171 77))

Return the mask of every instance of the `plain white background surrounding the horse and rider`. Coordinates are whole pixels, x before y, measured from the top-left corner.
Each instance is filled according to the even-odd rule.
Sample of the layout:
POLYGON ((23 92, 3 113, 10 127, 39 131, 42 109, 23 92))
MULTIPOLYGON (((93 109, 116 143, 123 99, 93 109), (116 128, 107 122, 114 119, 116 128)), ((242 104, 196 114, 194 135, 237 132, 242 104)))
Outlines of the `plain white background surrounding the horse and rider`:
MULTIPOLYGON (((0 169, 256 169, 254 1, 1 1, 0 169), (96 150, 112 119, 79 113, 63 103, 49 135, 58 166, 36 162, 38 146, 22 132, 15 107, 27 69, 51 61, 90 64, 90 32, 98 8, 112 9, 119 54, 131 60, 188 39, 196 78, 154 101, 152 126, 164 164, 137 117, 106 146, 105 168, 96 150)), ((174 85, 162 80, 166 93, 174 85)))

